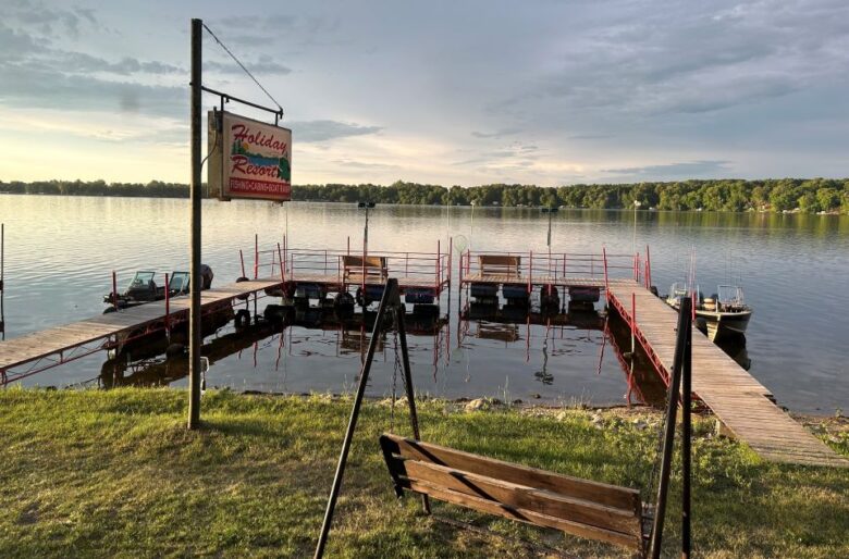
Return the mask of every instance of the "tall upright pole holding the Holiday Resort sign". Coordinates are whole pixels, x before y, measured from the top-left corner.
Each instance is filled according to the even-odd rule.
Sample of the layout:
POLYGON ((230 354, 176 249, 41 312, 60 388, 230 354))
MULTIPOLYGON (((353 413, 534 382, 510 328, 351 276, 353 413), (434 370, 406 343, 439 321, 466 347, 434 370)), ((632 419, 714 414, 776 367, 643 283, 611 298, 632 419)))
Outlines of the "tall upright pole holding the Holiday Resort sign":
POLYGON ((192 20, 192 269, 188 320, 188 428, 200 424, 200 70, 201 20, 192 20))

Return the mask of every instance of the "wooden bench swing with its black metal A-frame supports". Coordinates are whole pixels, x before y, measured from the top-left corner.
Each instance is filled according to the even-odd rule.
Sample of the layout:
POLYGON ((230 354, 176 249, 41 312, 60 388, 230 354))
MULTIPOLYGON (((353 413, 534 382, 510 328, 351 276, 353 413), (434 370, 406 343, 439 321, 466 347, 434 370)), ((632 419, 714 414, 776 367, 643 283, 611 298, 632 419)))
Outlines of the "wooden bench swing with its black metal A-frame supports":
MULTIPOLYGON (((691 305, 690 299, 682 301, 691 305)), ((663 525, 668 495, 672 454, 678 401, 682 407, 682 517, 681 550, 689 557, 690 549, 690 361, 692 326, 688 312, 679 313, 675 361, 669 378, 664 421, 662 452, 659 452, 660 480, 653 505, 642 502, 640 492, 630 487, 604 484, 563 475, 536 468, 495 460, 419 439, 418 418, 413 377, 404 330, 405 309, 401 302, 397 282, 390 278, 380 301, 368 353, 362 363, 357 395, 343 443, 336 474, 333 480, 324 521, 315 557, 323 557, 333 511, 344 475, 357 418, 365 396, 377 339, 392 312, 396 336, 401 340, 403 380, 409 406, 411 438, 392 433, 380 436, 383 458, 398 498, 405 492, 421 496, 422 506, 430 513, 429 498, 442 500, 479 512, 510 520, 555 529, 564 533, 615 544, 638 557, 657 558, 661 552, 663 525)), ((397 347, 397 344, 396 344, 397 347)), ((397 363, 396 357, 396 363, 397 363)), ((397 372, 397 367, 396 367, 397 372)), ((393 381, 393 427, 394 427, 393 381)), ((657 463, 652 470, 652 481, 657 463)), ((650 483, 650 485, 651 485, 650 483)))

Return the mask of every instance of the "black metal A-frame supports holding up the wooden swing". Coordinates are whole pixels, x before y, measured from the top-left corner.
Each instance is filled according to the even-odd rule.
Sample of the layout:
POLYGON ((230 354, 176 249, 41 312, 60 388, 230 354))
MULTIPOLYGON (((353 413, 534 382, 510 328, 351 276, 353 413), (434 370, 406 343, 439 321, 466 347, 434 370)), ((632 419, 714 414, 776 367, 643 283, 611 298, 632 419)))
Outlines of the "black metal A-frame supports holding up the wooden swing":
MULTIPOLYGON (((661 546, 662 546, 662 539, 663 539, 663 526, 664 526, 664 519, 665 519, 665 510, 666 510, 666 501, 668 496, 668 487, 669 487, 669 476, 672 472, 672 461, 673 461, 673 447, 674 447, 674 440, 675 440, 675 424, 676 424, 676 412, 678 408, 678 403, 680 401, 682 407, 682 413, 681 413, 681 420, 682 420, 682 442, 681 442, 681 469, 682 469, 682 488, 681 488, 681 557, 682 558, 689 558, 690 557, 690 435, 691 435, 691 418, 690 418, 690 407, 691 407, 691 336, 692 336, 692 324, 689 320, 690 313, 686 312, 687 308, 692 303, 691 299, 686 298, 681 302, 681 313, 678 321, 678 328, 677 328, 677 343, 676 343, 676 350, 675 350, 675 363, 673 367, 673 377, 670 378, 669 388, 668 388, 668 399, 667 399, 667 410, 666 410, 666 422, 664 425, 664 433, 663 433, 663 452, 662 452, 662 461, 661 461, 661 472, 660 472, 660 481, 657 484, 657 493, 656 493, 656 500, 655 500, 655 508, 654 513, 652 518, 652 526, 648 534, 642 534, 641 542, 642 544, 639 546, 639 556, 640 557, 651 557, 651 558, 659 558, 661 554, 661 546)), ((336 499, 339 497, 339 493, 342 487, 342 479, 345 471, 345 464, 347 462, 348 451, 350 449, 350 444, 354 437, 354 431, 356 428, 357 419, 359 417, 359 410, 362 405, 362 399, 365 397, 365 390, 366 386, 368 384, 368 375, 371 370, 371 363, 374 357, 374 350, 377 348, 377 340, 380 336, 381 332, 383 331, 385 318, 387 316, 387 313, 394 313, 394 322, 395 322, 395 330, 396 334, 398 335, 398 339, 401 343, 401 350, 402 350, 402 363, 404 369, 404 384, 406 388, 406 395, 407 395, 407 402, 410 410, 410 426, 413 427, 413 438, 407 439, 409 444, 413 444, 413 446, 416 446, 416 443, 419 442, 419 425, 418 425, 418 417, 416 413, 416 402, 415 402, 415 395, 414 395, 414 388, 413 388, 413 376, 409 365, 409 356, 407 352, 407 339, 406 339, 406 332, 404 328, 404 314, 405 314, 405 307, 401 302, 399 294, 398 294, 398 287, 397 282, 395 280, 390 278, 386 282, 385 289, 383 291, 383 297, 381 298, 380 308, 378 310, 378 315, 374 321, 374 327, 372 331, 372 337, 369 343, 368 353, 366 356, 365 361, 362 362, 362 369, 360 371, 360 378, 359 378, 359 385, 357 388, 357 395, 354 401, 354 408, 350 413, 350 419, 348 421, 348 426, 345 433, 345 439, 342 446, 342 452, 340 455, 339 464, 336 467, 336 473, 333 480, 333 487, 330 493, 330 497, 328 499, 328 507, 324 513, 324 520, 321 526, 321 533, 319 536, 318 544, 316 546, 316 554, 315 558, 321 558, 324 554, 324 548, 327 545, 327 539, 330 533, 331 524, 333 521, 333 512, 335 509, 336 499)), ((385 439, 386 435, 381 437, 381 445, 385 446, 385 439)), ((395 437, 397 438, 397 437, 395 437)), ((464 452, 457 452, 452 449, 442 448, 442 447, 435 447, 433 445, 424 445, 422 446, 432 447, 432 449, 442 449, 444 451, 465 455, 464 452)), ((383 448, 384 455, 386 454, 386 448, 383 448)), ((385 457, 385 456, 384 456, 385 457)), ((473 455, 468 455, 469 458, 476 459, 473 455)), ((478 460, 489 461, 489 459, 480 458, 478 460)), ((390 463, 387 459, 387 464, 390 463)), ((518 468, 524 469, 524 467, 518 467, 517 464, 508 464, 503 463, 504 467, 507 468, 518 468)), ((440 467, 438 467, 440 468, 440 467)), ((527 469, 525 469, 527 470, 527 469)), ((538 471, 542 475, 550 475, 552 477, 556 477, 557 474, 553 474, 550 472, 543 472, 538 471)), ((453 476, 462 476, 464 480, 466 479, 465 472, 459 471, 452 471, 451 475, 453 476)), ((473 476, 473 474, 472 474, 473 476)), ((393 480, 395 482, 395 490, 396 493, 403 493, 401 492, 401 485, 398 484, 398 480, 396 479, 396 474, 393 473, 393 480)), ((487 483, 487 480, 489 482, 499 482, 497 479, 481 479, 484 483, 487 483)), ((581 482, 578 479, 571 479, 573 482, 581 482)), ((586 481, 583 483, 593 484, 594 482, 586 481)), ((601 484, 598 484, 601 485, 601 484)), ((405 487, 409 489, 410 487, 405 487)), ((521 493, 526 493, 528 489, 531 489, 536 492, 534 489, 530 487, 520 488, 519 490, 521 493)), ((625 489, 623 489, 625 490, 625 489)), ((430 502, 428 500, 428 493, 422 490, 415 490, 414 493, 420 493, 422 498, 422 506, 424 508, 424 511, 427 513, 430 512, 430 502)), ((536 492, 540 495, 542 495, 542 492, 536 492)), ((440 492, 436 490, 434 493, 436 498, 439 498, 440 492)), ((553 498, 558 499, 561 497, 557 497, 556 495, 553 495, 553 498)), ((480 499, 478 499, 480 500, 480 499)), ((464 504, 463 499, 460 501, 455 501, 458 504, 464 504)), ((484 501, 492 504, 493 501, 484 501)), ((478 504, 480 505, 480 504, 478 504)), ((512 507, 504 507, 503 504, 497 504, 499 507, 502 508, 502 510, 499 510, 497 508, 493 509, 492 507, 484 507, 481 510, 488 511, 488 512, 495 512, 500 513, 501 515, 508 515, 514 517, 518 520, 525 520, 530 521, 530 523, 533 524, 541 524, 545 525, 545 519, 547 517, 540 517, 539 514, 536 514, 536 517, 540 517, 543 519, 543 522, 532 521, 528 518, 527 514, 524 514, 521 510, 516 510, 512 507), (510 514, 503 514, 503 510, 507 510, 510 512, 510 514), (518 512, 518 514, 516 514, 518 512), (522 518, 525 517, 525 518, 522 518)), ((469 506, 468 504, 466 506, 469 506)), ((480 508, 479 506, 471 505, 471 508, 480 508)), ((531 513, 533 517, 534 514, 531 513)), ((540 520, 540 518, 536 520, 540 520)), ((556 520, 556 519, 555 519, 556 520)), ((551 526, 551 524, 549 524, 551 526)), ((554 525, 552 527, 558 527, 557 525, 554 525)), ((570 532, 567 530, 567 532, 570 532)), ((576 533, 576 532, 571 532, 576 533)), ((591 533, 588 534, 588 537, 594 538, 591 533)))

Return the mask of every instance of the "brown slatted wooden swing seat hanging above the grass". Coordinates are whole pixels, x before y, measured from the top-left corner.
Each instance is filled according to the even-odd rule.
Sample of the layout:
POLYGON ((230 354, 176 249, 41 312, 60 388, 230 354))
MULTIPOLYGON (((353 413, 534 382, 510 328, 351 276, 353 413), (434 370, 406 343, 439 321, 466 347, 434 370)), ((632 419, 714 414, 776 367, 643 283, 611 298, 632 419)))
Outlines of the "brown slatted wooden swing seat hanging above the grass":
POLYGON ((404 489, 644 554, 640 493, 391 434, 380 446, 404 489))

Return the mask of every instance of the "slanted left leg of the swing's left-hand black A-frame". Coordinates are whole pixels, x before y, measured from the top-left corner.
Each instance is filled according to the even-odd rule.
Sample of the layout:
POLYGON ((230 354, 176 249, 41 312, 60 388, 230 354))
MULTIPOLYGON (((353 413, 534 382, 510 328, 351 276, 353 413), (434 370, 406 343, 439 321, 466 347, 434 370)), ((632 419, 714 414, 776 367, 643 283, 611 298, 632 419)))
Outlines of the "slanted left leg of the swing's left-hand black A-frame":
POLYGON ((324 521, 321 524, 321 534, 319 535, 318 544, 316 545, 316 559, 320 559, 324 556, 324 546, 328 543, 328 534, 330 534, 330 526, 333 522, 333 510, 336 508, 336 499, 339 498, 339 492, 342 488, 342 477, 345 475, 345 464, 348 460, 348 451, 350 450, 350 443, 354 439, 354 430, 357 426, 357 419, 359 418, 359 409, 362 406, 362 398, 366 396, 366 385, 368 384, 369 372, 371 371, 371 362, 374 359, 374 350, 378 347, 378 339, 381 334, 381 327, 383 325, 383 316, 389 308, 390 295, 397 291, 397 281, 395 278, 386 282, 386 288, 383 290, 383 297, 380 299, 380 307, 378 308, 378 315, 374 318, 374 326, 371 330, 371 339, 369 340, 369 349, 366 353, 366 358, 362 361, 362 369, 359 373, 359 385, 357 386, 357 396, 354 399, 354 408, 350 410, 350 419, 348 419, 348 426, 345 431, 345 439, 342 443, 342 452, 340 452, 339 463, 336 464, 336 473, 333 476, 333 487, 330 490, 330 497, 328 498, 328 508, 324 511, 324 521))

